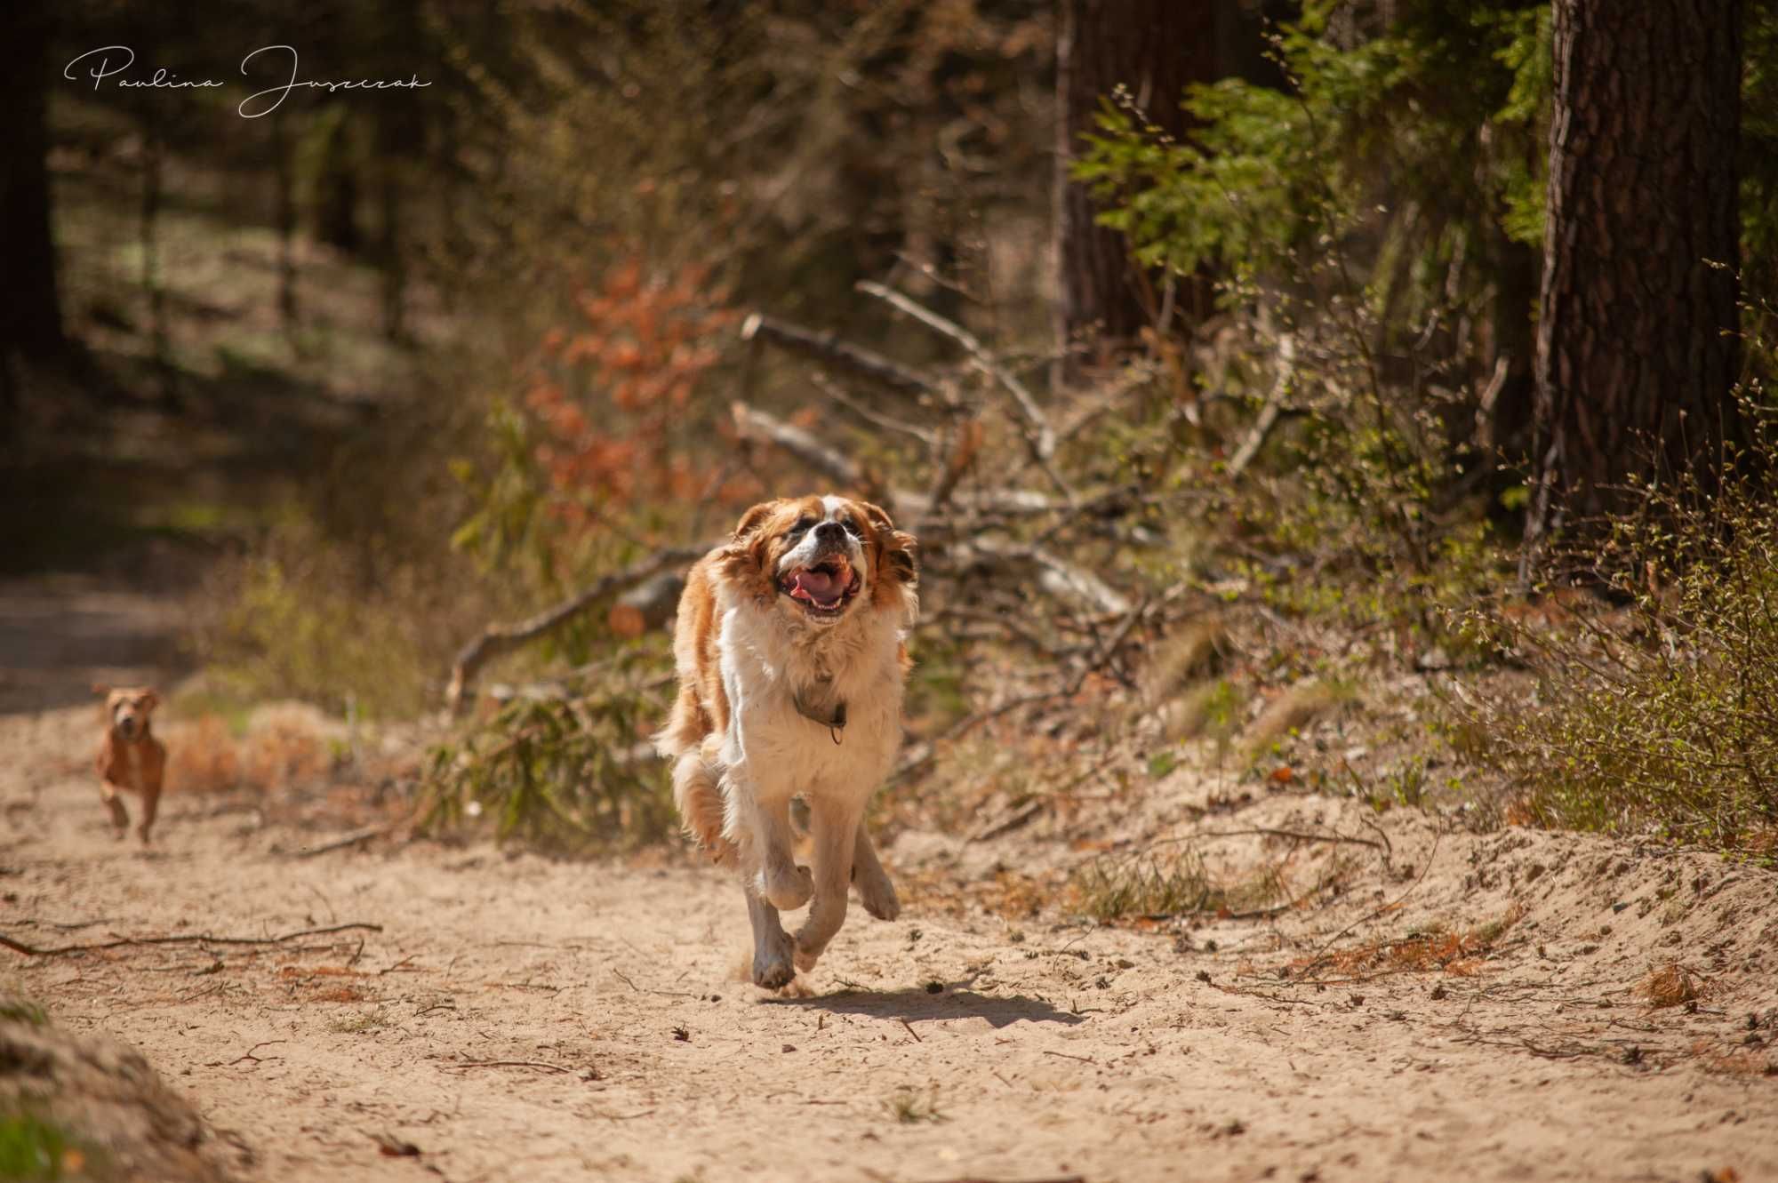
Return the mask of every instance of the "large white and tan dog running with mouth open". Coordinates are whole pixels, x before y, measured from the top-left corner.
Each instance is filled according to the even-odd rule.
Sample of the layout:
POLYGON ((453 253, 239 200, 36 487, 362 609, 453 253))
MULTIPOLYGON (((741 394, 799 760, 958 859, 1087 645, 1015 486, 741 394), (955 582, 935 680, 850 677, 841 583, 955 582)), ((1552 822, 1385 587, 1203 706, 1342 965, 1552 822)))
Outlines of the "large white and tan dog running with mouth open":
POLYGON ((679 700, 656 748, 686 833, 741 870, 757 986, 814 968, 848 883, 873 917, 900 911, 864 806, 901 741, 917 611, 914 538, 846 497, 756 504, 686 577, 679 700), (811 869, 791 853, 793 798, 809 805, 811 869), (791 940, 779 911, 804 904, 791 940))

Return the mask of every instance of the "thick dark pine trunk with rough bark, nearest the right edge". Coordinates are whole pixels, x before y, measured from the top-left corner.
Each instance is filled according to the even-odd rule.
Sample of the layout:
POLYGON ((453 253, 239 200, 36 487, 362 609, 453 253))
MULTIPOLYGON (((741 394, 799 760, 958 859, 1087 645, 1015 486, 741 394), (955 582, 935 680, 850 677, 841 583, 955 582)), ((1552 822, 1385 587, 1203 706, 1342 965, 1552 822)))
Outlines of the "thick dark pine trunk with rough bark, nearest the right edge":
POLYGON ((1531 536, 1741 437, 1739 0, 1556 0, 1531 536))

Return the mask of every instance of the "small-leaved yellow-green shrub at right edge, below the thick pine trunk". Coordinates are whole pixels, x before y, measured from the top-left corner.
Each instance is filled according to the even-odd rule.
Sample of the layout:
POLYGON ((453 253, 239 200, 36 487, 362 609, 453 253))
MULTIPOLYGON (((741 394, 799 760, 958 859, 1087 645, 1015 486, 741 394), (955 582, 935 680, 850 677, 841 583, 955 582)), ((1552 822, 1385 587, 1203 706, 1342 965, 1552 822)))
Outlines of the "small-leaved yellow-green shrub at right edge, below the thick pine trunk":
POLYGON ((1744 409, 1755 441, 1721 492, 1648 488, 1645 513, 1547 560, 1543 606, 1470 616, 1536 673, 1529 709, 1515 691, 1472 712, 1529 819, 1778 849, 1778 430, 1744 409))

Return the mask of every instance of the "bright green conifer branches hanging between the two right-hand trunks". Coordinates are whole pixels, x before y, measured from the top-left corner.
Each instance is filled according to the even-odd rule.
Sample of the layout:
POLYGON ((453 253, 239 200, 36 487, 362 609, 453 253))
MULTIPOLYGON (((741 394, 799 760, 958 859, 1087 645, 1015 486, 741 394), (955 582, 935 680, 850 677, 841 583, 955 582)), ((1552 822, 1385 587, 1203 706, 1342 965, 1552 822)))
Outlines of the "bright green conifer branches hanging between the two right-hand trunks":
POLYGON ((1271 272, 1326 236, 1364 231, 1378 279, 1422 293, 1462 256, 1486 282, 1488 234, 1542 242, 1540 123, 1547 5, 1408 4, 1382 36, 1339 44, 1312 0, 1275 53, 1294 91, 1237 78, 1186 91, 1186 142, 1108 103, 1076 176, 1149 265, 1271 272), (1453 183, 1456 181, 1456 183, 1453 183))

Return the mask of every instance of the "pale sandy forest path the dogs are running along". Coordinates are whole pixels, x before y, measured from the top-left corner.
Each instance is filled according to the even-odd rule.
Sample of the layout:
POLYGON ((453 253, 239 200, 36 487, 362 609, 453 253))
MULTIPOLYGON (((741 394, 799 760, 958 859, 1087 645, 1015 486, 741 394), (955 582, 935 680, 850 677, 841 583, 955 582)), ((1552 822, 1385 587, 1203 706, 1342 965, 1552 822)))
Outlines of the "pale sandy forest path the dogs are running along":
MULTIPOLYGON (((94 714, 55 705, 66 689, 0 716, 0 931, 46 949, 375 925, 0 952, 59 1027, 140 1048, 244 1144, 238 1178, 1778 1178, 1769 872, 1262 796, 1216 828, 1371 835, 1296 847, 1293 874, 1342 874, 1339 899, 1145 934, 969 902, 1053 858, 1038 838, 914 833, 887 851, 901 920, 855 908, 768 996, 738 981, 740 892, 681 861, 295 858, 322 838, 178 794, 162 846, 114 842, 94 714), (1700 996, 1650 1007, 1638 984, 1675 961, 1700 996)), ((1124 821, 1152 831, 1193 792, 1173 776, 1124 821)))

